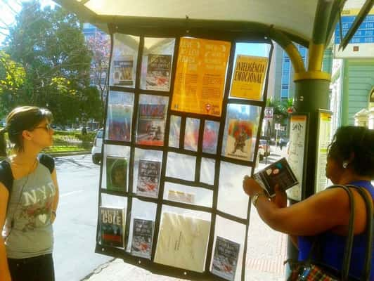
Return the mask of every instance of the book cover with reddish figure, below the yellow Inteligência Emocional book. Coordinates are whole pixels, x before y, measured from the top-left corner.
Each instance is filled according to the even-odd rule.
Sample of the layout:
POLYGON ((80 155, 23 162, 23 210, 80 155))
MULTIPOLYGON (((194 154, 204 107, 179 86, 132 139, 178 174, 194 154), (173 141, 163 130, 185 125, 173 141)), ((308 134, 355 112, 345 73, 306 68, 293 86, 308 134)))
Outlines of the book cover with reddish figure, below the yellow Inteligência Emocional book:
POLYGON ((225 156, 246 161, 250 160, 252 131, 252 122, 229 119, 225 156))

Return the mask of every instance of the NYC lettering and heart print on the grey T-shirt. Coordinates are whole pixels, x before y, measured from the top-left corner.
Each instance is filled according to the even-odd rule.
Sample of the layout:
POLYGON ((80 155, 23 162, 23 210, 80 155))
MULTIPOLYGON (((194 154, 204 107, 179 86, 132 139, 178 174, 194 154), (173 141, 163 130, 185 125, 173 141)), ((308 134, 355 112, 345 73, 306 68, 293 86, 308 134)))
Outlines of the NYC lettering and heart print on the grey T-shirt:
POLYGON ((42 228, 51 223, 52 202, 56 195, 53 182, 41 187, 22 192, 20 213, 18 213, 19 229, 23 232, 42 228), (21 223, 22 221, 22 223, 21 223))

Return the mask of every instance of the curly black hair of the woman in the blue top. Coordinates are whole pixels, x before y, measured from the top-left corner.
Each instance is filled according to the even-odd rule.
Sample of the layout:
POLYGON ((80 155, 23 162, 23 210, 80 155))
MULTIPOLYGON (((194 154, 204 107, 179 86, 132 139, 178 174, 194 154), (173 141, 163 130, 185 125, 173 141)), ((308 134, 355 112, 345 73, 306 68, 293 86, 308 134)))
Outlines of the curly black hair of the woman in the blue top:
POLYGON ((328 147, 328 157, 349 161, 356 174, 374 178, 374 130, 362 126, 337 129, 328 147))

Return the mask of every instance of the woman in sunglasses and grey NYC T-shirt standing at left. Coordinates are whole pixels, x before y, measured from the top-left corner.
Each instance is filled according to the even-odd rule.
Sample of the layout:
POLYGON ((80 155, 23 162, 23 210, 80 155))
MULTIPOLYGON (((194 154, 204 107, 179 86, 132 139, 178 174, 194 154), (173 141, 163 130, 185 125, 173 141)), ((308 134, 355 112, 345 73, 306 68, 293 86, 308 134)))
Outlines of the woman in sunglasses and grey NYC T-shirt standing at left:
POLYGON ((0 156, 6 157, 4 133, 13 154, 0 163, 0 280, 53 281, 53 229, 58 205, 54 161, 39 155, 52 145, 49 110, 23 106, 12 110, 0 131, 0 156))

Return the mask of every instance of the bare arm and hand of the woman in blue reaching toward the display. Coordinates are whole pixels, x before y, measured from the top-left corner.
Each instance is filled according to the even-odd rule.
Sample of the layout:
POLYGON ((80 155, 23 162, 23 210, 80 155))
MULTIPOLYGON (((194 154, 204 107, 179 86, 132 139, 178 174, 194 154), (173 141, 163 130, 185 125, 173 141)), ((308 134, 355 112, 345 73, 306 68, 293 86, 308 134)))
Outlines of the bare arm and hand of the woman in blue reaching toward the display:
MULTIPOLYGON (((243 181, 243 188, 250 196, 262 191, 249 177, 243 181)), ((349 220, 349 199, 340 188, 318 192, 286 208, 260 196, 256 207, 267 225, 289 235, 316 235, 335 226, 347 225, 349 220)))

